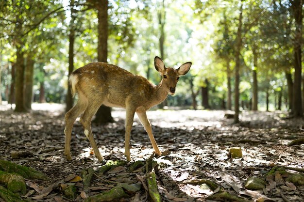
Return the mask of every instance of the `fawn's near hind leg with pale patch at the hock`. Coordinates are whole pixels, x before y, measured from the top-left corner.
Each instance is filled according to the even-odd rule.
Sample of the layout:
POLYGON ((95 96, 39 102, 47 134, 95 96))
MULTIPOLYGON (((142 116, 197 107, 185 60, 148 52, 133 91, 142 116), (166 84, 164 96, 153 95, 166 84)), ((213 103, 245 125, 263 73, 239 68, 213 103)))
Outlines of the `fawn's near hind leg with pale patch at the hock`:
POLYGON ((101 153, 98 149, 98 146, 94 140, 92 129, 91 129, 92 117, 94 116, 96 111, 100 108, 101 103, 103 102, 102 97, 100 99, 95 99, 95 100, 88 101, 87 108, 84 110, 84 114, 80 117, 80 123, 84 127, 84 135, 87 137, 87 139, 89 139, 89 141, 92 145, 94 154, 96 155, 98 160, 100 162, 106 162, 106 160, 104 160, 103 156, 101 155, 101 153), (97 101, 95 101, 95 100, 97 100, 97 101))

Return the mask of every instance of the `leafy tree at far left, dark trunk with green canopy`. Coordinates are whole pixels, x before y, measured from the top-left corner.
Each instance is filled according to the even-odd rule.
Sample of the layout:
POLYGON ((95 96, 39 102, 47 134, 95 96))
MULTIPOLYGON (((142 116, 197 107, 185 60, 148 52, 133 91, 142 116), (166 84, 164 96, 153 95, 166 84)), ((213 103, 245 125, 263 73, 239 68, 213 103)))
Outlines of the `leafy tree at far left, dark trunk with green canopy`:
POLYGON ((25 46, 27 36, 34 31, 45 19, 52 14, 63 11, 62 6, 57 6, 56 1, 23 1, 8 0, 0 7, 3 23, 0 24, 1 35, 10 37, 16 48, 16 79, 15 79, 15 102, 16 111, 26 111, 24 102, 24 70, 25 70, 25 46), (54 8, 56 7, 57 8, 54 8), (51 11, 50 11, 51 10, 51 11), (48 12, 41 12, 48 11, 48 12), (3 16, 3 17, 2 17, 3 16))

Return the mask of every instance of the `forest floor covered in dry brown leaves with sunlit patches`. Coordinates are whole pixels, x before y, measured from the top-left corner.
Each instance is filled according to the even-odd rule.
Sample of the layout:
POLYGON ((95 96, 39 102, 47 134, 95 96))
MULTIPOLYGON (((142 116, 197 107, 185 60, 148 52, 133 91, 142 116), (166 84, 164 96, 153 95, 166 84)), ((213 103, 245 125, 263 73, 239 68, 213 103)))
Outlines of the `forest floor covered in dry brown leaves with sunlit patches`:
MULTIPOLYGON (((90 153, 90 143, 79 121, 75 122, 72 132, 73 160, 66 160, 63 109, 62 105, 34 104, 31 112, 15 113, 9 106, 0 106, 0 159, 32 167, 51 178, 26 179, 26 196, 33 201, 81 202, 88 196, 111 190, 118 183, 140 183, 139 190, 128 192, 131 197, 120 201, 152 201, 144 180, 147 177, 144 166, 130 171, 130 163, 104 172, 102 176, 94 175, 89 192, 84 193, 82 171, 87 168, 98 171, 101 163, 90 153), (13 159, 13 151, 27 151, 31 155, 13 159), (77 188, 73 200, 63 191, 64 185, 71 184, 77 188)), ((95 140, 106 160, 125 160, 124 114, 123 110, 113 110, 115 123, 92 124, 95 140)), ((283 112, 243 111, 240 124, 233 124, 233 119, 225 118, 224 114, 221 110, 147 112, 155 140, 164 152, 153 158, 157 162, 154 170, 161 200, 303 202, 303 179, 298 184, 287 180, 288 176, 298 173, 292 168, 304 168, 304 144, 288 146, 291 140, 303 138, 303 120, 284 119, 287 114, 283 112), (240 147, 243 157, 229 157, 232 147, 240 147), (274 165, 291 168, 281 172, 273 169, 274 165), (272 175, 269 174, 271 169, 272 175), (253 176, 263 179, 265 186, 246 189, 246 180, 253 176), (202 179, 212 181, 221 191, 239 198, 210 197, 219 192, 219 188, 206 186, 208 183, 200 181, 202 179)), ((152 154, 148 135, 135 115, 131 133, 132 161, 139 160, 144 165, 152 154)))

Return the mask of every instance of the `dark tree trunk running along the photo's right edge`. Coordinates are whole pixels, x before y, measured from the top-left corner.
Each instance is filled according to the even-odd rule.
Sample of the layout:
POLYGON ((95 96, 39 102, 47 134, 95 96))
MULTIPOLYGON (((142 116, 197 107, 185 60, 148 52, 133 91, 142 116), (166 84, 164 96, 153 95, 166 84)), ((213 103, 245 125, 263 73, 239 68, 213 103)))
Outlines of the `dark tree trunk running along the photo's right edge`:
POLYGON ((291 3, 293 16, 295 19, 295 36, 294 36, 294 85, 293 85, 293 115, 303 117, 302 108, 302 21, 303 21, 303 0, 289 0, 291 3))

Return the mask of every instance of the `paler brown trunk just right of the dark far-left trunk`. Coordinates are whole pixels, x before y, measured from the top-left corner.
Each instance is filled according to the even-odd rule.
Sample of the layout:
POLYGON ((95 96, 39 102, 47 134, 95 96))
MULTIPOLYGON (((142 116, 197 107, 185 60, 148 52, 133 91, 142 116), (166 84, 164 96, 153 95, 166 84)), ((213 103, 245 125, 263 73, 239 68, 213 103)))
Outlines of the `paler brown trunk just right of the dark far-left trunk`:
POLYGON ((24 102, 27 109, 32 109, 33 100, 33 80, 34 80, 34 60, 29 53, 25 67, 25 89, 24 102))

